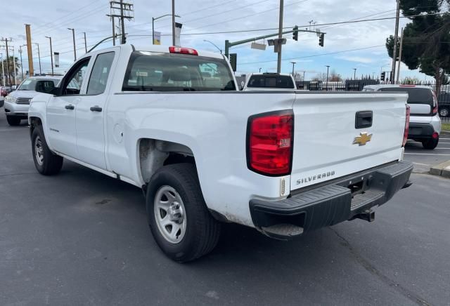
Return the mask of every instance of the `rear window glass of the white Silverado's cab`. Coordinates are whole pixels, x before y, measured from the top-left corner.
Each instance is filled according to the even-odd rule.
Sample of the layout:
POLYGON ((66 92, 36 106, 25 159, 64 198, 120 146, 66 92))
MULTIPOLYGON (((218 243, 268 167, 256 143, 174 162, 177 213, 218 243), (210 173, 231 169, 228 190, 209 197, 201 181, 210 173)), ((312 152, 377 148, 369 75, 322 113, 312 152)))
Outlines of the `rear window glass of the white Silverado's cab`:
POLYGON ((225 60, 135 51, 123 91, 236 91, 225 60))

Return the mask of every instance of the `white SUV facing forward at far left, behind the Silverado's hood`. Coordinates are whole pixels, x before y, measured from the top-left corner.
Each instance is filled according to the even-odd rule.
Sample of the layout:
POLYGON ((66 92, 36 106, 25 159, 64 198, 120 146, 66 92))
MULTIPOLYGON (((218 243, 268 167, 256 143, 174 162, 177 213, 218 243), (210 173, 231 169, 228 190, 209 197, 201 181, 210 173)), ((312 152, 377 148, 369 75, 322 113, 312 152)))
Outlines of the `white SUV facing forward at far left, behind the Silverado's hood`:
POLYGON ((59 83, 62 76, 31 76, 25 79, 18 89, 5 98, 6 120, 10 126, 18 126, 27 119, 30 101, 39 93, 50 92, 59 83))

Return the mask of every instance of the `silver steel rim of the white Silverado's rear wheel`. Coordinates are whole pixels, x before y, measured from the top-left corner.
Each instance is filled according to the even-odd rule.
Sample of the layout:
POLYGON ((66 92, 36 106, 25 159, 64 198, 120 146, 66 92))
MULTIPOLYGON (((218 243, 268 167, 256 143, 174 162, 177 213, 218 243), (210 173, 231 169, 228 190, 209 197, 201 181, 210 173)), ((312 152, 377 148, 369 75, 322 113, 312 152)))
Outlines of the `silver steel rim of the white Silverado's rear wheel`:
POLYGON ((160 187, 153 209, 162 237, 171 244, 179 244, 186 234, 186 209, 179 193, 167 185, 160 187))

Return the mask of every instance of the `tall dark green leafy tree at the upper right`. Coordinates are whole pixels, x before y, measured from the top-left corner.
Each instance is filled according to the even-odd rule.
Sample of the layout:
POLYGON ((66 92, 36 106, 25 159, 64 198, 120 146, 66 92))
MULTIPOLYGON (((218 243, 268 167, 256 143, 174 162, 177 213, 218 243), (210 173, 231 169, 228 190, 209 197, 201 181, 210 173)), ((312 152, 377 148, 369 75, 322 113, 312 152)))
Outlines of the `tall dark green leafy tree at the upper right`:
MULTIPOLYGON (((449 4, 450 0, 400 0, 401 11, 411 20, 404 28, 401 61, 433 76, 438 91, 450 72, 449 4)), ((394 36, 386 39, 386 48, 392 58, 394 36)))

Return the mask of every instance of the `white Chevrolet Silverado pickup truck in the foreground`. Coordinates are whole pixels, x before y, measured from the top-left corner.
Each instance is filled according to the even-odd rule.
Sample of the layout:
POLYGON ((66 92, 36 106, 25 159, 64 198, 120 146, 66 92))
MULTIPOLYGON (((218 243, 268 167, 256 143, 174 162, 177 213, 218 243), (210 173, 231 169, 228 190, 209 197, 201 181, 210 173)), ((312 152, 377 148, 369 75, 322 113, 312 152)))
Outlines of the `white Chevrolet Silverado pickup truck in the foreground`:
POLYGON ((51 93, 29 111, 39 173, 68 159, 142 188, 179 262, 223 222, 288 239, 372 221, 410 185, 406 93, 241 92, 221 55, 131 45, 83 55, 51 93))

